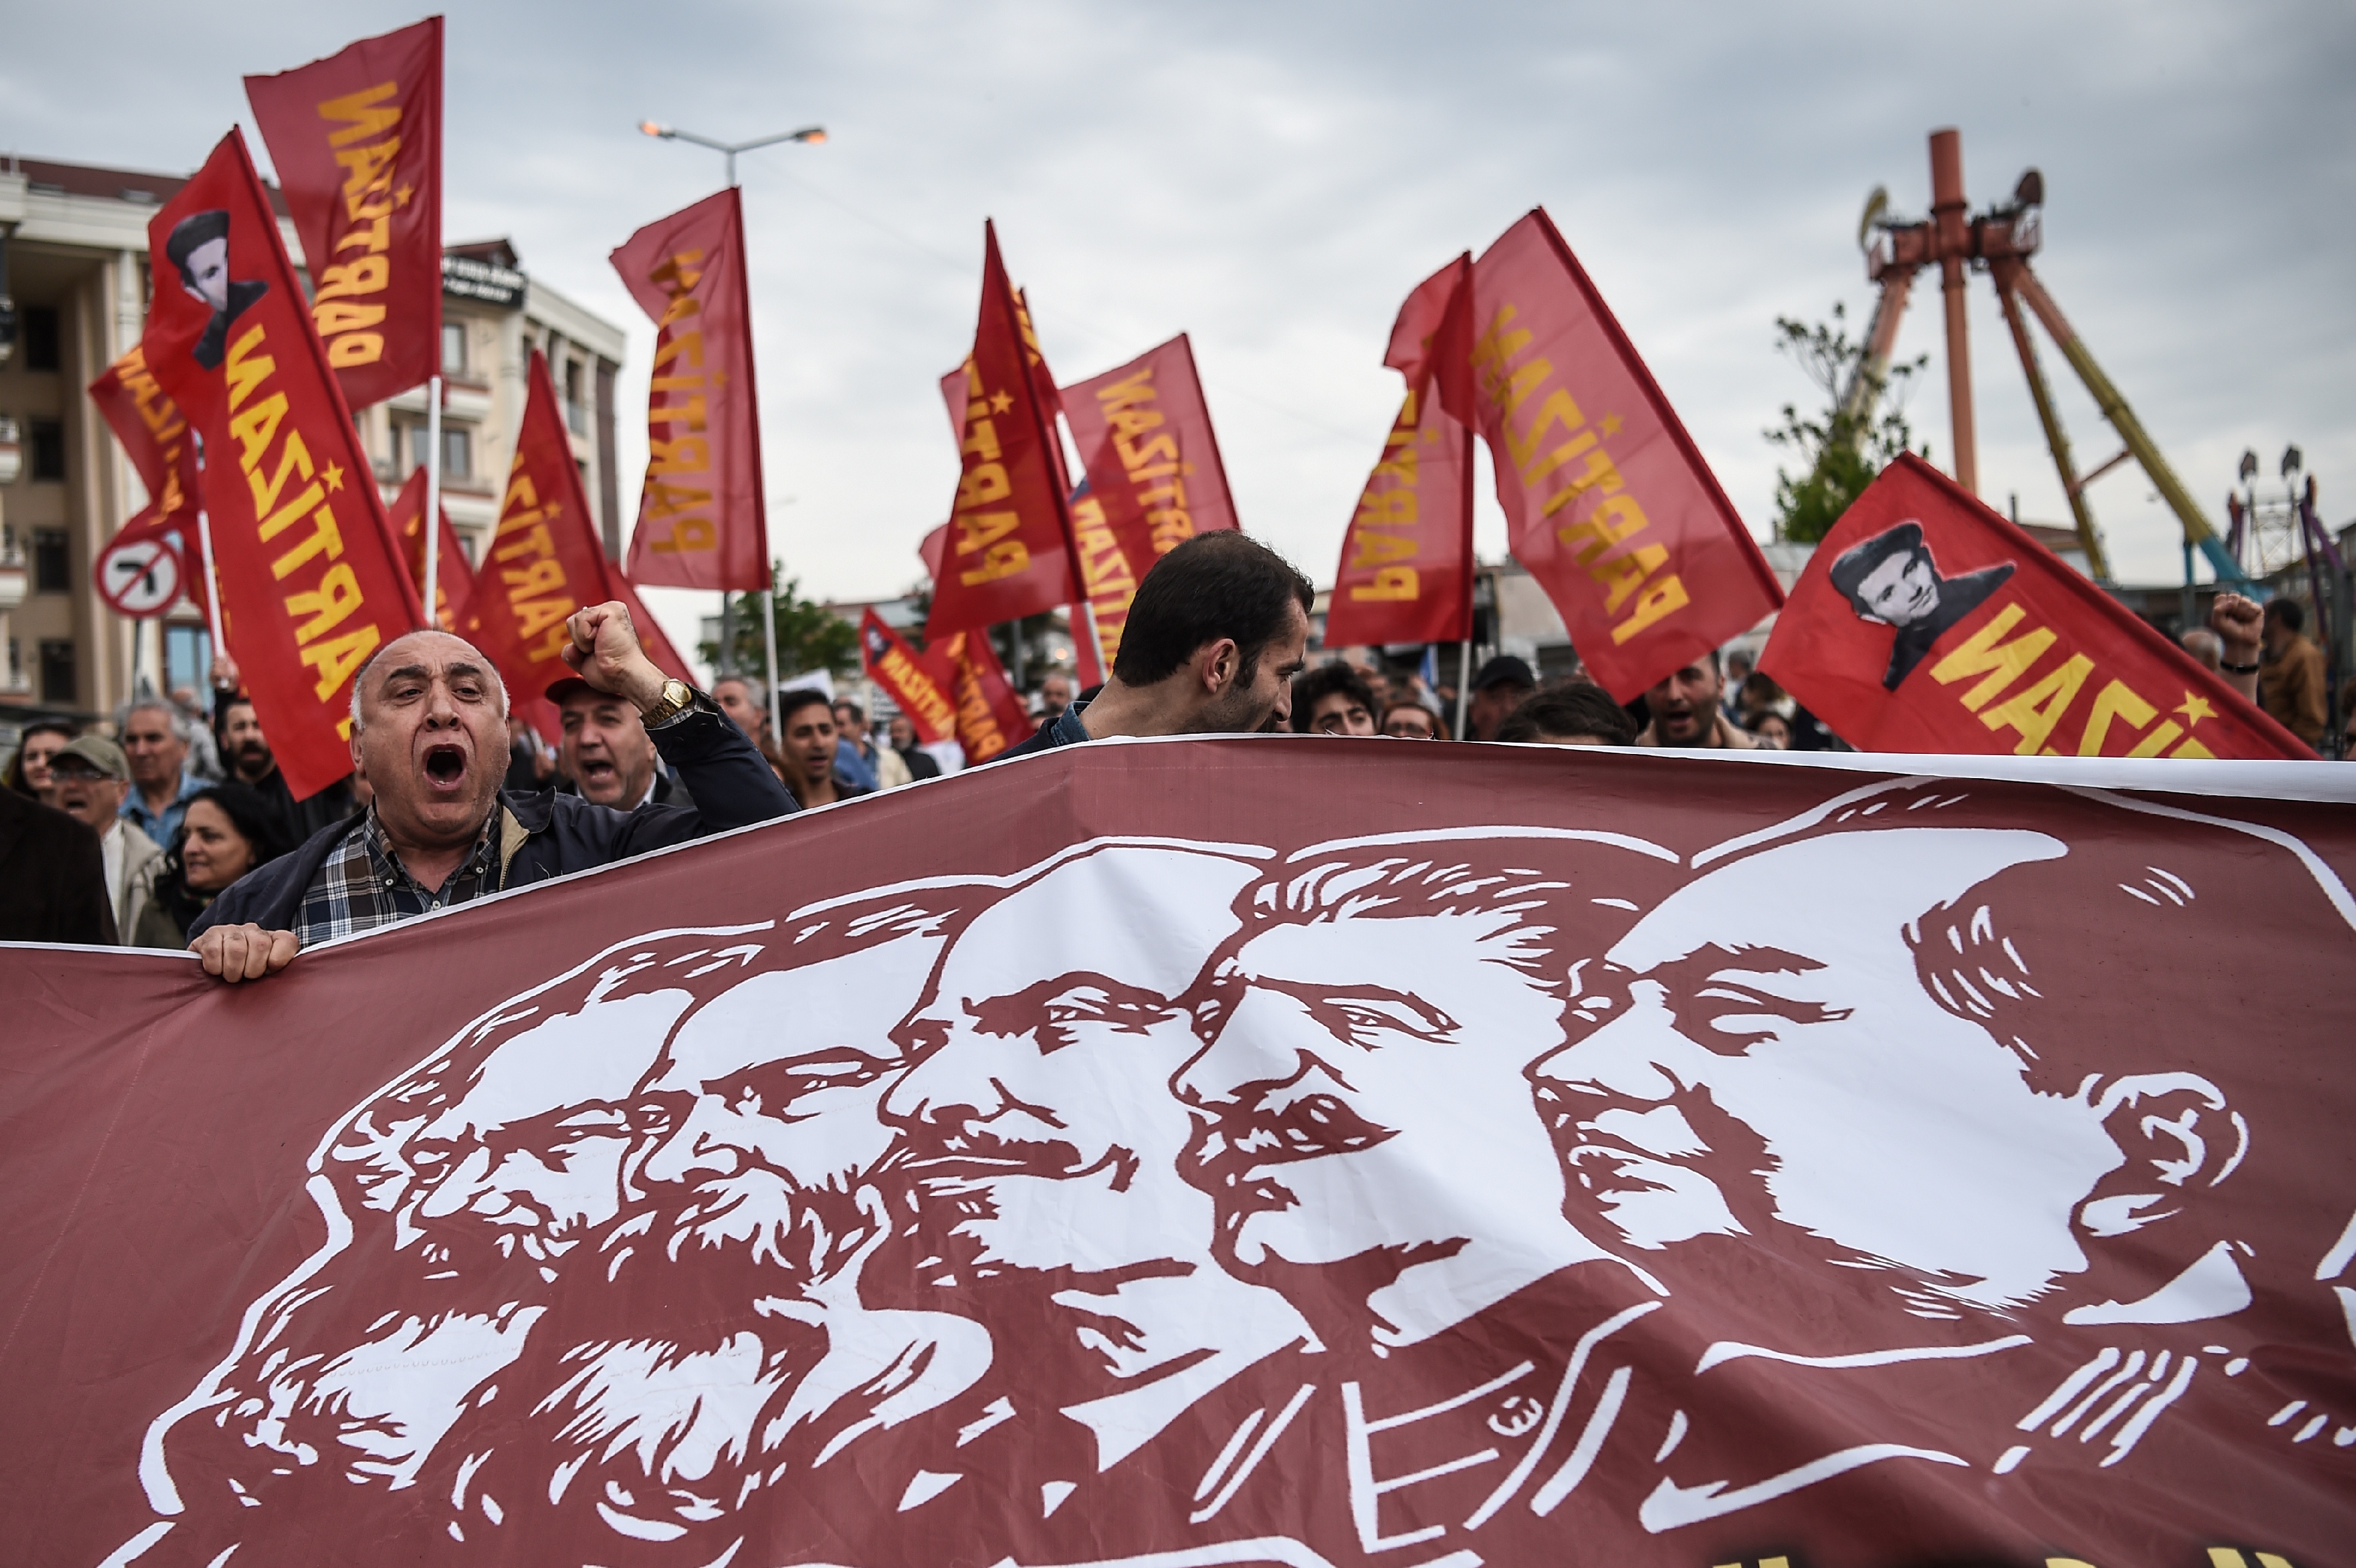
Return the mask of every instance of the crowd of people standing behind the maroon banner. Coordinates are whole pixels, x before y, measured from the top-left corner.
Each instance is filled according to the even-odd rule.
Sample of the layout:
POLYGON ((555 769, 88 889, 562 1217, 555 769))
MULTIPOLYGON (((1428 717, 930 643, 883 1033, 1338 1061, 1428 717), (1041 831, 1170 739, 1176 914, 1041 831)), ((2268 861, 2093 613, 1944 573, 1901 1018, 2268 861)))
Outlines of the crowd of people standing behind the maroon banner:
MULTIPOLYGON (((1039 730, 1001 753, 1152 735, 1298 735, 1798 749, 1845 744, 1748 650, 1713 650, 1630 704, 1513 655, 1461 702, 1421 676, 1333 657, 1310 666, 1315 591, 1244 534, 1202 534, 1147 574, 1110 680, 1039 683, 1039 730), (1461 716, 1461 730, 1458 730, 1461 716)), ((565 678, 542 692, 549 746, 466 640, 417 631, 353 680, 349 779, 297 798, 236 664, 214 664, 212 723, 132 702, 113 735, 38 720, 0 789, 0 939, 196 949, 259 979, 304 946, 643 850, 938 777, 905 716, 818 687, 664 678, 622 605, 573 617, 565 678)), ((2328 716, 2323 652, 2297 603, 2219 593, 2196 659, 2307 744, 2328 716)), ((1001 760, 999 758, 999 760, 1001 760)), ((952 758, 954 760, 954 758, 952 758)))

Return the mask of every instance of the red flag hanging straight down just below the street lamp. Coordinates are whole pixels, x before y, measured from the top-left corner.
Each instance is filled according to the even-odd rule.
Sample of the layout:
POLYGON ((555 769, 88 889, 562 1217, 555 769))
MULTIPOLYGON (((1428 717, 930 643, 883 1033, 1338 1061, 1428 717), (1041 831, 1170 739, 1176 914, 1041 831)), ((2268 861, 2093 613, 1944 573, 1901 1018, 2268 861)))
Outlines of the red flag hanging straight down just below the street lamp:
POLYGON ((629 579, 674 589, 768 586, 761 412, 737 191, 657 219, 613 252, 655 320, 646 393, 646 490, 629 579))

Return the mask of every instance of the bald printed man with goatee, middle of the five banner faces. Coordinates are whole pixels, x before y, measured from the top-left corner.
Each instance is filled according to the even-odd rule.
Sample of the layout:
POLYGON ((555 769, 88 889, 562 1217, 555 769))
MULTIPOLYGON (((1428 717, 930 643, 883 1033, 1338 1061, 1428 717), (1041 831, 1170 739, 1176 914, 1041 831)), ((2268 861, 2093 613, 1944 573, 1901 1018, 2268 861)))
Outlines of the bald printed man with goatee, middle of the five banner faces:
POLYGON ((987 1323, 997 1361, 912 1429, 888 1474, 914 1481, 879 1521, 895 1533, 848 1561, 1060 1561, 1060 1533, 1079 1556, 1185 1544, 1225 1504, 1244 1427, 1291 1420, 1301 1380, 1260 1363, 1308 1326, 1213 1260, 1211 1201, 1178 1175, 1192 1123, 1164 1088, 1258 857, 1084 845, 949 946, 884 1114, 916 1180, 916 1300, 987 1323))

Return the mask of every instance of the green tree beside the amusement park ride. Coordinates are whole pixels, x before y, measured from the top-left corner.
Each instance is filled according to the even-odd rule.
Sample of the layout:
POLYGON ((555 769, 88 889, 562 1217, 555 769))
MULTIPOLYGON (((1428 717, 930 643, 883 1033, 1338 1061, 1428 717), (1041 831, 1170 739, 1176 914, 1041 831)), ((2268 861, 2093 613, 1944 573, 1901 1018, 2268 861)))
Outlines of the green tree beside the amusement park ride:
MULTIPOLYGON (((1913 447, 1906 393, 1913 377, 1930 365, 1930 356, 1892 365, 1871 386, 1859 388, 1861 396, 1852 407, 1842 407, 1842 393, 1864 374, 1866 358, 1866 344, 1849 341, 1847 308, 1835 301, 1831 323, 1805 325, 1779 315, 1774 325, 1776 351, 1788 353, 1800 374, 1826 396, 1826 407, 1814 419, 1802 419, 1800 410, 1786 403, 1783 424, 1765 433, 1807 464, 1805 478, 1793 478, 1781 466, 1774 473, 1774 537, 1814 544, 1833 530, 1840 513, 1885 464, 1913 447)), ((1920 452, 1930 457, 1930 445, 1925 443, 1920 452)))

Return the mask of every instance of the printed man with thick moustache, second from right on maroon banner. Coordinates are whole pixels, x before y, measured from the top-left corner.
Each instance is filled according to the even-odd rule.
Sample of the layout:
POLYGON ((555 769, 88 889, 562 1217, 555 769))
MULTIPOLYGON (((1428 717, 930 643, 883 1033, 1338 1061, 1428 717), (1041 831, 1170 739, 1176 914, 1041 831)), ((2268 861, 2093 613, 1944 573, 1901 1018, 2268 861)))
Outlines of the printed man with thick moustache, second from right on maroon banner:
POLYGON ((1595 1015, 1588 972, 1670 878, 1633 838, 1463 829, 1301 850, 1244 902, 1230 1010, 1176 1078, 1204 1118, 1190 1175, 1220 1255, 1333 1356, 1242 1521, 1345 1497, 1312 1521, 1329 1559, 1546 1540, 1531 1511, 1626 1387, 1614 1337, 1661 1302, 1564 1220, 1527 1069, 1595 1015))

